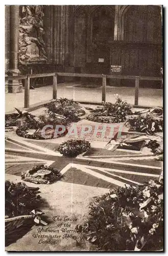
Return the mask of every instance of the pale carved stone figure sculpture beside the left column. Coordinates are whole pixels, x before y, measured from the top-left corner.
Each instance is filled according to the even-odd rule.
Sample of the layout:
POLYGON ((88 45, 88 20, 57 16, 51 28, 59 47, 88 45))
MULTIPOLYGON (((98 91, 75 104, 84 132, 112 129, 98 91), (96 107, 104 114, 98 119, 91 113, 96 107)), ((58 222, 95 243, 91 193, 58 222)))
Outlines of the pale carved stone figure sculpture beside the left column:
POLYGON ((43 6, 23 6, 22 13, 19 26, 19 61, 47 62, 43 41, 43 6))

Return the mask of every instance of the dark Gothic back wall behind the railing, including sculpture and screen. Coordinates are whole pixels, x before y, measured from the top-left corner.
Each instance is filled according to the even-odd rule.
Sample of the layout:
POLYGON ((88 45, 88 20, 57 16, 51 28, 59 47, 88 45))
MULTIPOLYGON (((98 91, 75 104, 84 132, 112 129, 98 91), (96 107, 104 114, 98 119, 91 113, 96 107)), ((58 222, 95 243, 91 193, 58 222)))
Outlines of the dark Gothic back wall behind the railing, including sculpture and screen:
MULTIPOLYGON (((160 75, 162 24, 159 6, 44 5, 19 8, 18 62, 21 73, 31 69, 36 73, 45 64, 45 69, 41 69, 48 72, 109 74, 111 65, 121 65, 122 74, 160 75), (99 62, 100 58, 104 61, 99 62)), ((8 6, 6 70, 9 69, 9 19, 8 6)), ((95 79, 90 80, 95 82, 95 79)))

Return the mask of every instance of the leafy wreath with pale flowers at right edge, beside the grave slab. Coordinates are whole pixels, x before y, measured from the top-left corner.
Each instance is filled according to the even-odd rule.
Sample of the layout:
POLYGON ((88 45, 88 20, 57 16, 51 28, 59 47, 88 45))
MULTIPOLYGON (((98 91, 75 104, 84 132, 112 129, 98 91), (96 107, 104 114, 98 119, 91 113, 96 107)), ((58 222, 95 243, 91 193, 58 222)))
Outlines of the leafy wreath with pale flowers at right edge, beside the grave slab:
POLYGON ((154 118, 150 114, 147 114, 145 117, 141 115, 130 117, 127 124, 130 130, 136 132, 153 134, 163 131, 163 118, 154 118))

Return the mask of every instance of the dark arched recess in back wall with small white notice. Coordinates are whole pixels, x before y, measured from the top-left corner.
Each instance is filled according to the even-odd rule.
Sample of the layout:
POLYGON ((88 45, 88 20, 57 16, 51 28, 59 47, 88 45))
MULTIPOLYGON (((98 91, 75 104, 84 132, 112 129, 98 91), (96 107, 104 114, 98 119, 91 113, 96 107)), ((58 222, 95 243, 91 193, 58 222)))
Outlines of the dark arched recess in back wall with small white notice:
MULTIPOLYGON (((114 39, 115 6, 99 6, 88 15, 88 45, 86 70, 93 74, 109 74, 109 39, 114 39)), ((101 79, 90 79, 101 82, 101 79)))

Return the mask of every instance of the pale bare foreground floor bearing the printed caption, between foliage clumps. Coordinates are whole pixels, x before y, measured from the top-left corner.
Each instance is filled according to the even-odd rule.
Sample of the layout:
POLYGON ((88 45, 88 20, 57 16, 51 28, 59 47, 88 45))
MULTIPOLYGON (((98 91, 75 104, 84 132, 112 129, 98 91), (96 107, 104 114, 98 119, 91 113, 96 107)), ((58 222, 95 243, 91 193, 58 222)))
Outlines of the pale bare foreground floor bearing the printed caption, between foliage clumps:
MULTIPOLYGON (((21 178, 15 175, 6 175, 6 179, 13 182, 20 182, 21 178)), ((26 182, 28 186, 36 187, 36 184, 26 182)), ((51 235, 53 233, 38 231, 39 226, 33 226, 24 236, 20 235, 20 238, 14 243, 6 246, 7 251, 81 251, 87 250, 87 247, 81 248, 77 246, 75 239, 63 239, 66 232, 63 232, 57 225, 59 221, 53 221, 54 216, 60 216, 63 220, 66 216, 68 218, 76 218, 77 221, 68 221, 70 227, 68 229, 74 230, 76 225, 82 224, 86 220, 88 215, 88 205, 91 202, 91 197, 99 196, 108 193, 109 189, 101 187, 91 187, 81 184, 73 184, 58 181, 51 185, 39 184, 40 196, 46 200, 47 206, 41 208, 45 216, 47 216, 47 222, 49 223, 44 228, 50 230, 59 230, 57 235, 61 236, 57 239, 51 239, 56 244, 42 244, 39 238, 34 238, 33 234, 45 234, 51 235)), ((65 223, 65 222, 64 222, 65 223)), ((41 227, 41 226, 40 226, 41 227)), ((54 233, 55 234, 55 233, 54 233)), ((70 234, 70 233, 69 233, 70 234)), ((77 235, 77 233, 73 233, 77 235)), ((49 241, 50 239, 42 239, 43 241, 49 241)))

